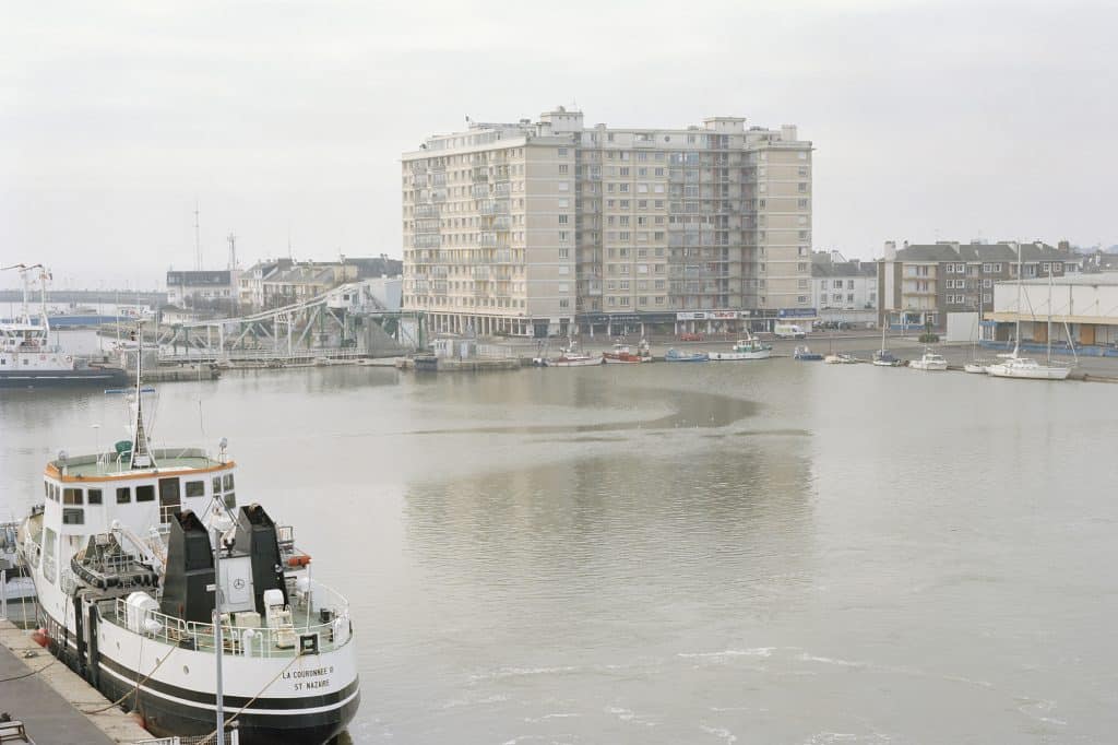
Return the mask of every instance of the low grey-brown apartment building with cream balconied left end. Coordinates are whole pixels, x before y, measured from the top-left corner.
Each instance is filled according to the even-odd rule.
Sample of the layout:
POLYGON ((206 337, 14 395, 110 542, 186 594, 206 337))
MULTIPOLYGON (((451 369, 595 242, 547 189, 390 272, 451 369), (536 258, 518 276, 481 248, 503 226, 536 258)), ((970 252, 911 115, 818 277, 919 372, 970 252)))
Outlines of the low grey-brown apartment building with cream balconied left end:
POLYGON ((879 320, 892 326, 942 330, 947 313, 994 310, 994 286, 1017 279, 1017 248, 1024 279, 1063 276, 1077 268, 1065 244, 1042 242, 960 244, 940 242, 898 248, 885 243, 878 262, 879 320))

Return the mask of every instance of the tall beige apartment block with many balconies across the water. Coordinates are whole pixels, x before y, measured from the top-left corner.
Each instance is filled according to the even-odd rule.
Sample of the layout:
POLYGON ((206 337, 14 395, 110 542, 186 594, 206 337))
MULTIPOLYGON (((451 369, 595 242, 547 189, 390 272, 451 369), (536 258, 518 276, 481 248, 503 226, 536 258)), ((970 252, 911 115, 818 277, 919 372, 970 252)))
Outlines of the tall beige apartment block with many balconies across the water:
POLYGON ((812 143, 717 116, 678 130, 472 122, 402 157, 404 308, 434 331, 738 331, 809 320, 812 143))

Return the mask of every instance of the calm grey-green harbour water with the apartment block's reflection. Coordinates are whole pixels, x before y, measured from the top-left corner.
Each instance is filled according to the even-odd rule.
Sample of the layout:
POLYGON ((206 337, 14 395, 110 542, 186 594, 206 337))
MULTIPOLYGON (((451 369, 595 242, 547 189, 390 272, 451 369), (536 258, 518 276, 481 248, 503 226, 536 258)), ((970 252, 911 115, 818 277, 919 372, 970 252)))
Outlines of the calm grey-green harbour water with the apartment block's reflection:
MULTIPOLYGON (((357 743, 1095 743, 1118 388, 773 359, 160 386, 352 603, 357 743)), ((0 393, 0 516, 120 397, 0 393)))

